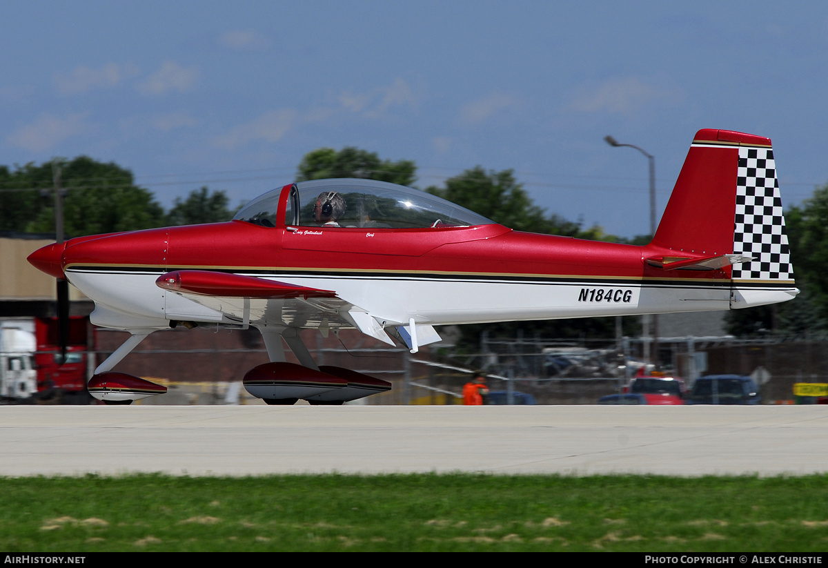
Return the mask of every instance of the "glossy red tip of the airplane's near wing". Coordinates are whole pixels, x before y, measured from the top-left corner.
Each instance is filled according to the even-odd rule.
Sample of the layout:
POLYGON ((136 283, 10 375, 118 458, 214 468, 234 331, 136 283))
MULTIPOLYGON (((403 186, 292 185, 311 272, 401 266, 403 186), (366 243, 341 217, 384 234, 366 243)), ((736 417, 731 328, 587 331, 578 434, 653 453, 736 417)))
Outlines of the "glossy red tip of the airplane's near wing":
POLYGON ((156 285, 175 292, 229 298, 333 298, 336 292, 295 286, 264 278, 207 270, 176 270, 162 274, 156 285))

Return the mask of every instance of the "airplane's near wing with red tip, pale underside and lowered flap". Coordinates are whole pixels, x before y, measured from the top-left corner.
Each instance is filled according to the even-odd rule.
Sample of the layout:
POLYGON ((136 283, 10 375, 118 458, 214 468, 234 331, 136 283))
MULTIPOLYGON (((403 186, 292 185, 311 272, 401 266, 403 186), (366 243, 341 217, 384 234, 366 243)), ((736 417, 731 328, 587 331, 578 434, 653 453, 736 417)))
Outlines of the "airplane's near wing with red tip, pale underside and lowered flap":
POLYGON ((315 328, 324 336, 331 328, 355 327, 394 345, 383 330, 384 322, 331 290, 206 270, 167 272, 156 279, 156 286, 215 310, 245 327, 266 324, 315 328))

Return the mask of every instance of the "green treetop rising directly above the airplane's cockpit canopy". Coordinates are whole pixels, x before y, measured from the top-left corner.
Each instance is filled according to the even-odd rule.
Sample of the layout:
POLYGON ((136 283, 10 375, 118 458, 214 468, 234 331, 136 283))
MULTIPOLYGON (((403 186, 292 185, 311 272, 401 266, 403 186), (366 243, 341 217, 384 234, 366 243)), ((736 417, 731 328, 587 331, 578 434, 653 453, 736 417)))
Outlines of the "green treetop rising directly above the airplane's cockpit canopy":
POLYGON ((357 177, 412 185, 416 180, 415 172, 413 161, 381 161, 375 152, 354 147, 344 147, 339 152, 333 148, 319 148, 302 158, 296 181, 357 177))

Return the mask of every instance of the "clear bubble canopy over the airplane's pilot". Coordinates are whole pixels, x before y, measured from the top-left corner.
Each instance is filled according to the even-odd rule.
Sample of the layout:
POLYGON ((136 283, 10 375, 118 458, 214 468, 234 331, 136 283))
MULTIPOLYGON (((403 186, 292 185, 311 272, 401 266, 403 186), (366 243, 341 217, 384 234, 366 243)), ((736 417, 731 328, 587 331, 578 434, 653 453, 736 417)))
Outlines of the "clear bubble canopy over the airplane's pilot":
POLYGON ((469 227, 494 223, 425 191, 359 179, 300 181, 285 194, 282 189, 268 191, 245 205, 233 219, 265 227, 360 229, 469 227), (285 217, 277 219, 282 195, 287 200, 285 217), (324 219, 320 219, 320 209, 325 209, 324 219))

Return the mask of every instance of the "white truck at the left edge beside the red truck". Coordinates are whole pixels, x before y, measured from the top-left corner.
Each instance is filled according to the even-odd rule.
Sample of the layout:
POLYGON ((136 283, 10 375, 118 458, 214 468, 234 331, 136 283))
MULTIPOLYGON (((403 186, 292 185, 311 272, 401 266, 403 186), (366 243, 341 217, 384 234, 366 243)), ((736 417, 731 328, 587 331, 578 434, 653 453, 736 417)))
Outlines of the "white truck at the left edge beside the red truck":
POLYGON ((36 349, 33 320, 0 320, 0 400, 37 392, 36 349))

